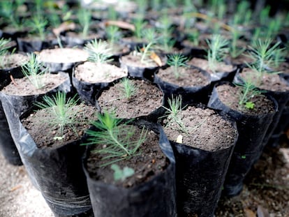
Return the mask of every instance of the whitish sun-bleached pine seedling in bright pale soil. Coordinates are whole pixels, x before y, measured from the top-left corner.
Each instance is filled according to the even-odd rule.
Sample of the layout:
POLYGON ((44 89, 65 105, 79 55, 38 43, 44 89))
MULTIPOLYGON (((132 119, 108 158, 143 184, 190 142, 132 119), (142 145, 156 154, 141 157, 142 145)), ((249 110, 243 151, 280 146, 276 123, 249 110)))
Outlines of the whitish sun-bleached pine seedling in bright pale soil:
POLYGON ((84 46, 84 50, 87 50, 89 53, 88 60, 91 62, 108 63, 112 61, 112 59, 110 59, 110 57, 112 57, 111 48, 105 40, 91 40, 84 46))

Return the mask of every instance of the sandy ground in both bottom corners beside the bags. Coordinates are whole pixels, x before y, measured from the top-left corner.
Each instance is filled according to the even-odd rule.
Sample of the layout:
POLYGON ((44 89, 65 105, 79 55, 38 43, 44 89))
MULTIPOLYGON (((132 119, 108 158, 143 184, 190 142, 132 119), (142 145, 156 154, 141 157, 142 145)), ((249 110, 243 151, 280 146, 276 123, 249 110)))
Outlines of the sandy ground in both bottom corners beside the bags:
MULTIPOLYGON (((0 216, 52 217, 53 214, 32 186, 23 166, 8 165, 0 154, 0 216)), ((289 216, 289 142, 281 149, 265 149, 246 179, 242 194, 222 199, 216 217, 253 217, 259 212, 270 217, 289 216)))

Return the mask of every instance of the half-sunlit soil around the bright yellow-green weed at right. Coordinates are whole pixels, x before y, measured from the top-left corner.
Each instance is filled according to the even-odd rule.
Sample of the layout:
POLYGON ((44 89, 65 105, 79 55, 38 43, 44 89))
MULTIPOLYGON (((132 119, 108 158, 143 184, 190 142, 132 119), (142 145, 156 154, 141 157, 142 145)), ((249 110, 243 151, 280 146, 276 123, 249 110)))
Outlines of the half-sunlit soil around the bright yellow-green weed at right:
POLYGON ((218 98, 232 110, 242 112, 243 114, 268 114, 274 112, 274 103, 265 95, 255 95, 250 99, 254 103, 253 109, 247 109, 239 105, 239 87, 232 87, 228 84, 216 87, 218 98))

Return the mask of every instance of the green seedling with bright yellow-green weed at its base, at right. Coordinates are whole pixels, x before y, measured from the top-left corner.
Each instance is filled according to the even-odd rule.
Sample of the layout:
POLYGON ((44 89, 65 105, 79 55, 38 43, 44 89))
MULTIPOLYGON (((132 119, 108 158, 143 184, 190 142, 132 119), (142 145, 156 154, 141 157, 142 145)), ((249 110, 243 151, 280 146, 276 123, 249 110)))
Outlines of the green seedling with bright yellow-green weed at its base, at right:
POLYGON ((251 101, 254 96, 258 96, 264 91, 261 91, 253 82, 244 81, 243 83, 239 83, 235 85, 240 88, 239 91, 239 110, 253 110, 255 104, 251 101))

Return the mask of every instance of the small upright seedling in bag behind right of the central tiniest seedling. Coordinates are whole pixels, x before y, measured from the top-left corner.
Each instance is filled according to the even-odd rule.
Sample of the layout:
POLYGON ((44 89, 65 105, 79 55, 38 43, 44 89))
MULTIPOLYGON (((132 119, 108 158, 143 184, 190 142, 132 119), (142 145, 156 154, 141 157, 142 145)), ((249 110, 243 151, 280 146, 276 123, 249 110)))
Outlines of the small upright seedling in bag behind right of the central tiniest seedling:
POLYGON ((187 57, 184 57, 182 54, 170 54, 168 55, 168 65, 172 66, 173 72, 176 79, 181 77, 181 70, 184 67, 187 67, 186 62, 188 61, 187 57))

